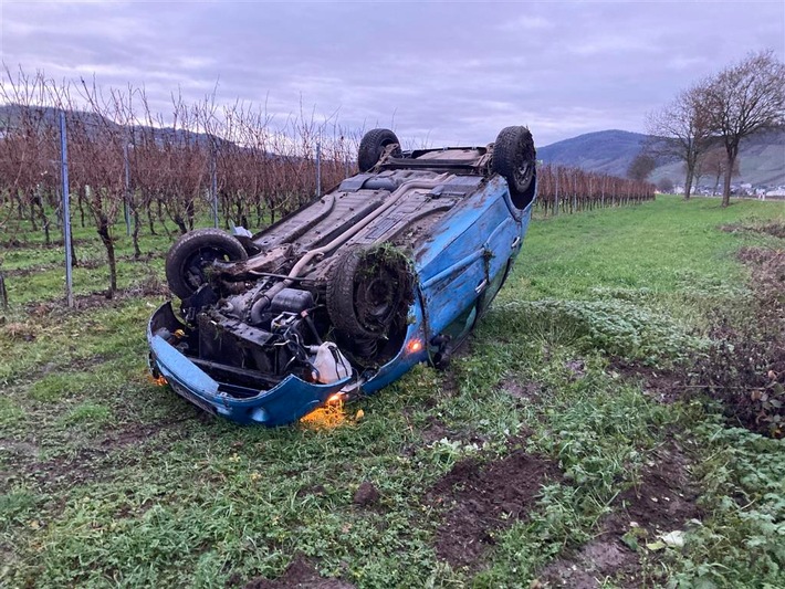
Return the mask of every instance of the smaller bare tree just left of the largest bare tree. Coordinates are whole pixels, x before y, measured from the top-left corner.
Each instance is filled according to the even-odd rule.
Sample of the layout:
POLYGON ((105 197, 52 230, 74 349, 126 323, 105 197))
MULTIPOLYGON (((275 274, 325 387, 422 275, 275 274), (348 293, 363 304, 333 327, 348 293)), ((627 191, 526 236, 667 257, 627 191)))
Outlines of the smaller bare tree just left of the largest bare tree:
POLYGON ((684 162, 684 200, 690 199, 693 182, 698 183, 698 162, 711 139, 703 95, 703 85, 682 91, 673 102, 650 113, 646 123, 648 133, 657 137, 651 149, 684 162))

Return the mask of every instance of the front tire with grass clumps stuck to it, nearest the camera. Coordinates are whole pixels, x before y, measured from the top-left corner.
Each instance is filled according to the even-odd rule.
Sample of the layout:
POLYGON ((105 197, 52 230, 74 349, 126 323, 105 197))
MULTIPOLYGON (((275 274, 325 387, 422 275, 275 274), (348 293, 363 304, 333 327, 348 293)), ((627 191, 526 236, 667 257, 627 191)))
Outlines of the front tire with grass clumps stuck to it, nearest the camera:
POLYGON ((409 262, 387 249, 355 248, 333 266, 327 282, 327 312, 345 338, 381 338, 405 325, 414 302, 409 262))

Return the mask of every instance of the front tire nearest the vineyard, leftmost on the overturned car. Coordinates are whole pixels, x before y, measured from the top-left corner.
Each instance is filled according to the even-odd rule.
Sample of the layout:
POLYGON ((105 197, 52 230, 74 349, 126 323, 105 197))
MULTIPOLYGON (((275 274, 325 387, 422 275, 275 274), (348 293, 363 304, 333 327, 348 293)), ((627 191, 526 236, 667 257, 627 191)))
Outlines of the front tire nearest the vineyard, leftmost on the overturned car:
POLYGON ((242 243, 220 229, 197 229, 180 236, 166 255, 169 290, 188 298, 207 282, 205 270, 216 260, 248 260, 242 243))

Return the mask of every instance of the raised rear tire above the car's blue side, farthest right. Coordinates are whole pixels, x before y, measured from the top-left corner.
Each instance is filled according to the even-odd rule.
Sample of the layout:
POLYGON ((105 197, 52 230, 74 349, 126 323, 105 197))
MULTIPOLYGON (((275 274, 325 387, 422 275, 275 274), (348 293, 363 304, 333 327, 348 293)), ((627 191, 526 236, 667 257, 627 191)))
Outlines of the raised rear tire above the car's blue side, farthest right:
POLYGON ((493 145, 493 171, 503 176, 516 209, 525 209, 536 193, 537 152, 526 127, 505 127, 493 145))

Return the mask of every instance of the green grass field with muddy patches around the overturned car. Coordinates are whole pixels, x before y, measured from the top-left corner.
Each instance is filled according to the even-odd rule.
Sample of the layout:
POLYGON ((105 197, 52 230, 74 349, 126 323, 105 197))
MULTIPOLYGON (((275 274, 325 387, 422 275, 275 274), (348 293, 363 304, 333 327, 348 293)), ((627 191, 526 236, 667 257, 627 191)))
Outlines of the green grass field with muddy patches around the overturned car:
POLYGON ((719 230, 755 219, 785 209, 663 197, 535 220, 447 371, 278 430, 149 381, 166 238, 134 262, 122 236, 114 301, 90 296, 104 266, 78 269, 76 311, 62 249, 2 250, 0 586, 784 587, 785 442, 667 379, 745 304, 735 252, 782 249, 719 230))

